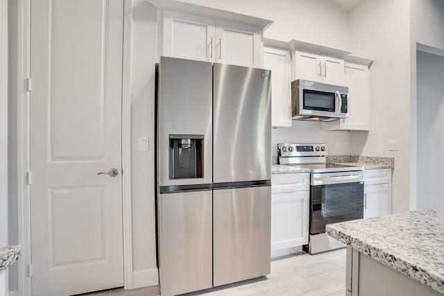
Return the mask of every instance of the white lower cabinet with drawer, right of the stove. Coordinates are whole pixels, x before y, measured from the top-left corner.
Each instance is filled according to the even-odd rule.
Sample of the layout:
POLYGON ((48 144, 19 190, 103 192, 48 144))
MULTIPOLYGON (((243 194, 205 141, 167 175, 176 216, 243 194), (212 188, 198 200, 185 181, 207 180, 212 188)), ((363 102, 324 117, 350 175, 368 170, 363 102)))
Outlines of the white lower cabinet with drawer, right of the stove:
POLYGON ((391 168, 364 171, 364 218, 391 214, 391 168))

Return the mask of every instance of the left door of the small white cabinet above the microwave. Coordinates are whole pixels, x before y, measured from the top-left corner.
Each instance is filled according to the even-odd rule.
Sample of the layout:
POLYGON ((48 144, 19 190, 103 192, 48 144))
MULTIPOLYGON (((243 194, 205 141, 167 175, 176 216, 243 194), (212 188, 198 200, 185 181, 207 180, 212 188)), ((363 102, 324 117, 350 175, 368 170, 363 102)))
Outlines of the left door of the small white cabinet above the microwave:
POLYGON ((295 51, 295 79, 321 82, 321 55, 295 51))

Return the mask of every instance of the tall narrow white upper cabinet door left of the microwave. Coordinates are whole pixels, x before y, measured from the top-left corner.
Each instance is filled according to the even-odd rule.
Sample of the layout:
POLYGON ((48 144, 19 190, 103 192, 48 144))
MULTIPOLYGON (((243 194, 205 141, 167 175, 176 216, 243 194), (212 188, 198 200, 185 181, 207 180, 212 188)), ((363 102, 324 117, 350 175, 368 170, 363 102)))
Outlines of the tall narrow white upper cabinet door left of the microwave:
POLYGON ((271 69, 271 126, 291 127, 290 52, 265 48, 264 68, 271 69))

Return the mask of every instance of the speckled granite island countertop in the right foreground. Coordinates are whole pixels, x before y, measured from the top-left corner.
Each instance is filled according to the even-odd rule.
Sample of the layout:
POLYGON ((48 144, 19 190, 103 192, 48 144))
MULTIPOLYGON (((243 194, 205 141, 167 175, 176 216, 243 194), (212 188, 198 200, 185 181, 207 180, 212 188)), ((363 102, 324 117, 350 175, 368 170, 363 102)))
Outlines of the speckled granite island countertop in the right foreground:
POLYGON ((444 293, 444 207, 326 225, 327 234, 444 293))

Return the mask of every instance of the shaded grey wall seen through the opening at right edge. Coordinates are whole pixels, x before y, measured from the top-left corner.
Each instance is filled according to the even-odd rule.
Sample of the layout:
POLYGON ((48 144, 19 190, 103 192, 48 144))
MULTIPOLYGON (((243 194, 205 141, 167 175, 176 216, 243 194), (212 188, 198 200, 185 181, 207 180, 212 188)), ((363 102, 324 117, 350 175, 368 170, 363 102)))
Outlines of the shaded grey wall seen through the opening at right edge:
POLYGON ((418 51, 417 209, 444 206, 444 57, 418 51))

